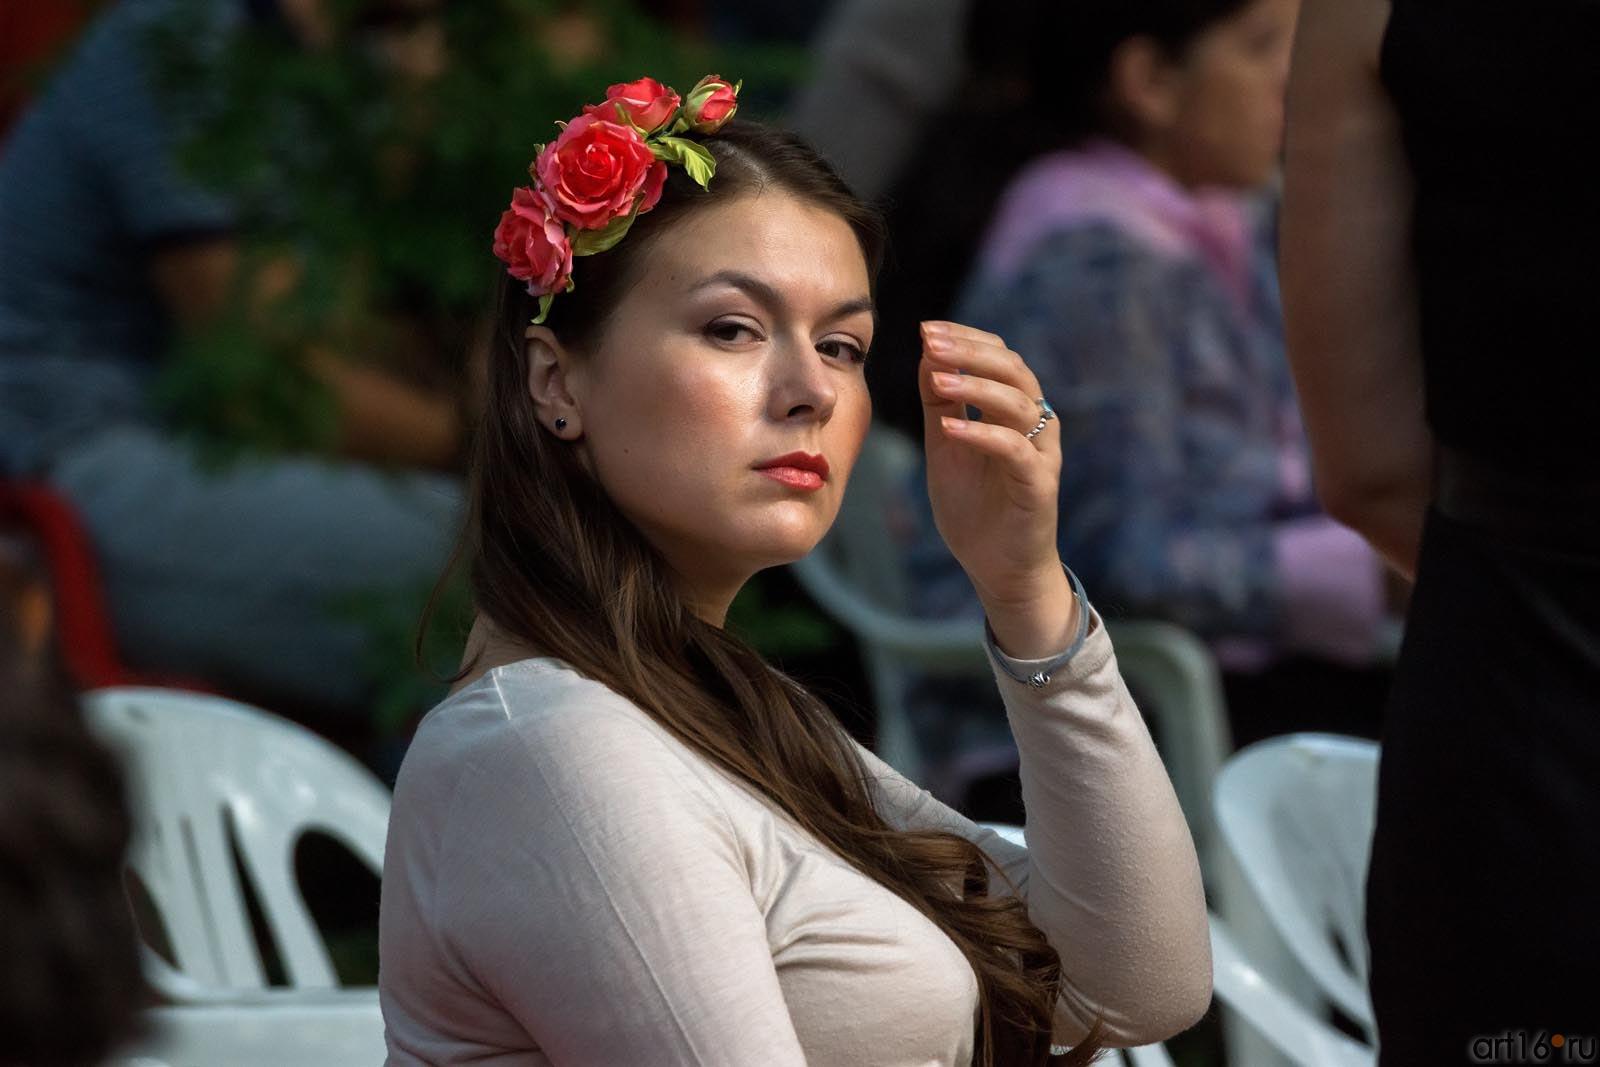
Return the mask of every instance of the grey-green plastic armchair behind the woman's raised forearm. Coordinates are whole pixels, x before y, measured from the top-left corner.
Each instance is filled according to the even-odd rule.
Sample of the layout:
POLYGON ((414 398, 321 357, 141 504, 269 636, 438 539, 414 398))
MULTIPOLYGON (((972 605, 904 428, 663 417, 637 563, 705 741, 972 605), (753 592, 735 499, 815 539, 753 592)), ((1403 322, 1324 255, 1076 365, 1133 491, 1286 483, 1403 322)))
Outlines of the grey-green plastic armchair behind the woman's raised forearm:
MULTIPOLYGON (((792 571, 802 589, 861 645, 878 709, 877 753, 917 779, 923 760, 904 705, 914 673, 990 677, 982 624, 909 614, 904 536, 893 514, 922 459, 904 434, 875 426, 851 474, 832 533, 792 571)), ((1155 723, 1162 757, 1208 881, 1216 872, 1211 782, 1232 750, 1222 681, 1206 645, 1166 622, 1109 627, 1117 662, 1155 723)))

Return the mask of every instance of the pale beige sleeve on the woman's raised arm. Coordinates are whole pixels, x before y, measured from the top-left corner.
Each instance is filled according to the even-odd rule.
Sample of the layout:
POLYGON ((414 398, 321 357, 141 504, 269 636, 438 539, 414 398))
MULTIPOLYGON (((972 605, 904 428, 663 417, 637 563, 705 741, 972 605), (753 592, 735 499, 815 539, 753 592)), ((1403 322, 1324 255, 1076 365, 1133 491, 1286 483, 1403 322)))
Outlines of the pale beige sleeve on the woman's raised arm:
MULTIPOLYGON (((885 816, 984 848, 1061 953, 1056 1041, 1104 1014, 1120 1046, 1165 1040, 1211 1001, 1211 942, 1194 841, 1144 718, 1096 616, 1048 685, 995 670, 1022 755, 1027 848, 934 800, 864 753, 885 816)), ((998 886, 998 880, 997 886, 998 886)))

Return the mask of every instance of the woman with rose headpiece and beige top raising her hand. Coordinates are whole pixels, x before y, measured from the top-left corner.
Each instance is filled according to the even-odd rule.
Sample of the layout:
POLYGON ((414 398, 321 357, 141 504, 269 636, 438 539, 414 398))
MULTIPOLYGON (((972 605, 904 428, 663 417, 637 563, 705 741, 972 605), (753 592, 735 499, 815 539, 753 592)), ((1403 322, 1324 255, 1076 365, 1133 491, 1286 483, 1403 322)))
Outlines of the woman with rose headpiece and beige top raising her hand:
POLYGON ((1000 338, 928 323, 922 398, 1029 848, 722 629, 838 510, 880 235, 797 139, 723 125, 733 91, 707 83, 613 86, 496 234, 478 616, 395 789, 389 1062, 1086 1062, 1189 1027, 1210 1001, 1194 846, 1056 553, 1059 422, 1000 338))

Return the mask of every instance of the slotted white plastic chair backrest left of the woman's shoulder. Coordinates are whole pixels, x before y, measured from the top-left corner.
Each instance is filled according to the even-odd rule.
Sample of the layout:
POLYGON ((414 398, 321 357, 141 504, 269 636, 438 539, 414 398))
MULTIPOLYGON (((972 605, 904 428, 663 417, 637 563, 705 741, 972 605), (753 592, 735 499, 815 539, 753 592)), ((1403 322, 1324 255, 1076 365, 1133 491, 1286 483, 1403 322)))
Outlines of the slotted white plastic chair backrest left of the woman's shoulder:
POLYGON ((176 971, 150 960, 157 987, 174 1000, 266 987, 240 867, 290 985, 338 985, 294 880, 294 846, 322 832, 381 873, 382 782, 302 726, 235 701, 150 688, 83 701, 90 725, 126 761, 136 825, 128 864, 176 960, 176 971))

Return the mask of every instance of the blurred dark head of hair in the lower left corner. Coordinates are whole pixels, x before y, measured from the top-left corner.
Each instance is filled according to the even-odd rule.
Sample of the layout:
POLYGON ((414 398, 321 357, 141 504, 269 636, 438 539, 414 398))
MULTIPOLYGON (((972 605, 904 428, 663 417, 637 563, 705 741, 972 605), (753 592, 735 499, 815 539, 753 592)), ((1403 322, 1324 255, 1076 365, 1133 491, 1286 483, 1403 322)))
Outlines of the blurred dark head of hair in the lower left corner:
POLYGON ((0 541, 0 1061, 88 1067, 144 998, 122 773, 48 653, 46 587, 0 541))

